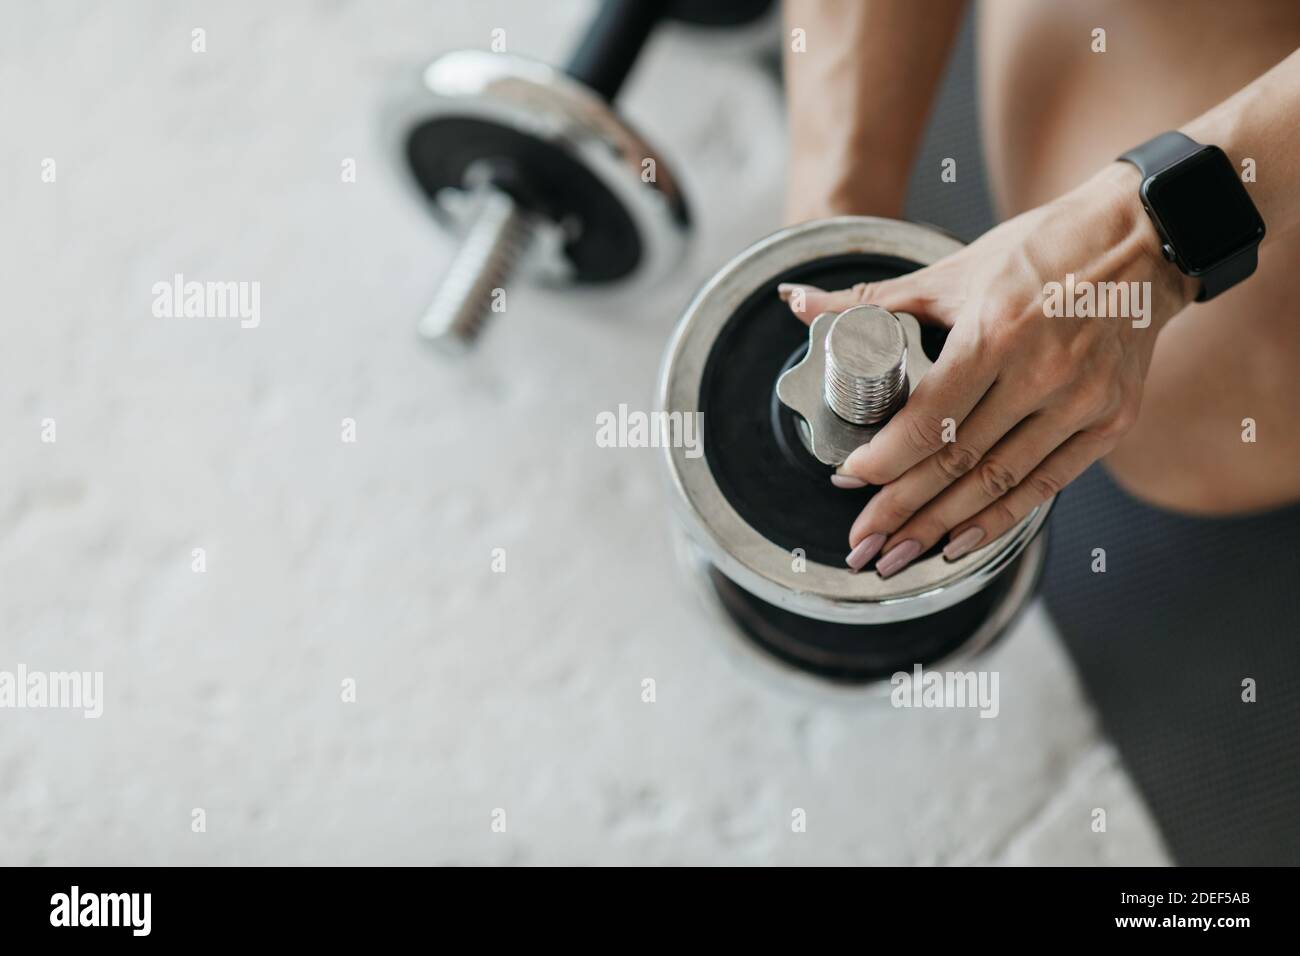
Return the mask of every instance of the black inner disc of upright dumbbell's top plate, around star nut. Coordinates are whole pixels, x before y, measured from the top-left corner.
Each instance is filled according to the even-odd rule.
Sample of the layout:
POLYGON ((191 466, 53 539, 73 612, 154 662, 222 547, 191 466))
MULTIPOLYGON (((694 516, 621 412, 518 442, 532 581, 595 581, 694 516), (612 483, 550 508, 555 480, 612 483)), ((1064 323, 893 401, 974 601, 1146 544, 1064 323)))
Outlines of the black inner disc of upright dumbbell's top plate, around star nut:
MULTIPOLYGON (((849 527, 874 489, 831 484, 832 468, 807 453, 793 414, 775 397, 776 378, 807 350, 807 326, 776 294, 779 282, 848 289, 919 268, 892 256, 853 254, 823 259, 774 277, 728 320, 705 364, 699 410, 705 458, 723 496, 745 522, 785 550, 842 566, 849 527)), ((932 359, 945 333, 922 324, 932 359)))

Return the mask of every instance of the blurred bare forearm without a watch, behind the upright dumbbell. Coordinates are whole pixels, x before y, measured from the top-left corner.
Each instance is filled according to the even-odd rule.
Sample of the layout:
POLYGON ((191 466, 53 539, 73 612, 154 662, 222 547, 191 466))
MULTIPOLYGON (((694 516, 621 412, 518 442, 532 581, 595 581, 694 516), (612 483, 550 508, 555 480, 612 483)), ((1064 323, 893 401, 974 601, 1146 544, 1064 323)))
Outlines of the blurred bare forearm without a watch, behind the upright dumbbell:
POLYGON ((786 216, 898 216, 965 0, 785 0, 786 216), (792 31, 802 30, 797 49, 792 31))

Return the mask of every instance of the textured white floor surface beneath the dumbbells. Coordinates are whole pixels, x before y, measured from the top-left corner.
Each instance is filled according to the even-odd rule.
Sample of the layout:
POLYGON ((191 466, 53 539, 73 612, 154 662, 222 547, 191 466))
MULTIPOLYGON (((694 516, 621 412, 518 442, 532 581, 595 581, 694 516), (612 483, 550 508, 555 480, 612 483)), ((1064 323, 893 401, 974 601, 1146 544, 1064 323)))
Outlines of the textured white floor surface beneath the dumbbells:
POLYGON ((103 670, 107 700, 0 710, 0 862, 1164 861, 1041 611, 988 659, 997 719, 774 688, 681 580, 655 453, 595 446, 777 225, 780 91, 742 49, 664 34, 623 101, 701 224, 672 282, 512 290, 455 364, 416 341, 451 250, 381 108, 493 27, 558 59, 588 10, 6 13, 0 670, 103 670), (261 282, 261 325, 152 317, 177 272, 261 282))

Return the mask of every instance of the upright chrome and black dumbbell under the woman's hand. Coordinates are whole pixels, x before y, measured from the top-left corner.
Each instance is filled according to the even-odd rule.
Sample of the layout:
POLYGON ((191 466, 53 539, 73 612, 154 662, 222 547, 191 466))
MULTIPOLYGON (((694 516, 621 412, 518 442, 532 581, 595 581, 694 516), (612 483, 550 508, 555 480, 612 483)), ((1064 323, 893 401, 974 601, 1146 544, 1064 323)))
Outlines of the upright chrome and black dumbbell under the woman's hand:
POLYGON ((689 574, 780 670, 868 684, 949 667, 989 646, 1034 593, 1050 501, 957 561, 935 548, 890 578, 849 571, 848 529, 876 489, 829 477, 904 407, 945 333, 875 306, 805 326, 776 293, 892 278, 961 246, 871 217, 785 229, 715 274, 668 346, 659 408, 702 415, 702 454, 664 449, 689 574))

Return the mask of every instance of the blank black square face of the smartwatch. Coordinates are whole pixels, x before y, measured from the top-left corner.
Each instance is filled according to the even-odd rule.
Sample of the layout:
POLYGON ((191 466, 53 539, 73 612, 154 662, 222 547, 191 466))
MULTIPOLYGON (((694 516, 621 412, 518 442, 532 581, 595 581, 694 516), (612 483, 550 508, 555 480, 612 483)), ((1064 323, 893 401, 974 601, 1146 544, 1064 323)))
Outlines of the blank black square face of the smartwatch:
POLYGON ((1143 194, 1188 272, 1204 272, 1264 238, 1264 220, 1217 146, 1156 173, 1143 194))

